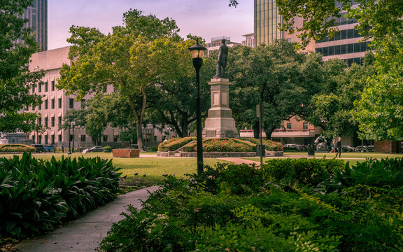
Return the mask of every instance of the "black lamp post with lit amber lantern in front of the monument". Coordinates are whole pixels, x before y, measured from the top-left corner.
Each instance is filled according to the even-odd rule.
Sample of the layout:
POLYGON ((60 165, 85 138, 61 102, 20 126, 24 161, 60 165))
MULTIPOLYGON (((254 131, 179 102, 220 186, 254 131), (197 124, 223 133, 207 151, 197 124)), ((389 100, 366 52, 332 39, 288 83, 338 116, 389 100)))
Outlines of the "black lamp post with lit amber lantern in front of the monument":
POLYGON ((203 139, 201 139, 201 104, 200 104, 200 80, 199 73, 201 65, 203 64, 203 56, 206 48, 199 45, 197 41, 196 45, 192 45, 190 48, 190 54, 193 58, 193 66, 196 69, 196 133, 197 133, 197 174, 203 172, 203 139))

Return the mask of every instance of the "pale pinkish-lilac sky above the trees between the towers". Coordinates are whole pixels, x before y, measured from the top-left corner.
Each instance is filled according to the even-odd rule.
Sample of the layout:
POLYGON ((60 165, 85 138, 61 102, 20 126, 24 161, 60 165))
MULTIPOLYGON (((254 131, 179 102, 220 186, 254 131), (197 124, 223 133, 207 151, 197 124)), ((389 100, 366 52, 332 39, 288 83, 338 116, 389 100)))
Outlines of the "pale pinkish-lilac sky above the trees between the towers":
POLYGON ((253 32, 253 1, 241 0, 229 7, 229 0, 48 0, 48 50, 69 45, 72 25, 95 27, 108 34, 122 25, 123 13, 130 8, 143 15, 172 18, 185 38, 192 34, 207 42, 229 36, 241 43, 244 34, 253 32))

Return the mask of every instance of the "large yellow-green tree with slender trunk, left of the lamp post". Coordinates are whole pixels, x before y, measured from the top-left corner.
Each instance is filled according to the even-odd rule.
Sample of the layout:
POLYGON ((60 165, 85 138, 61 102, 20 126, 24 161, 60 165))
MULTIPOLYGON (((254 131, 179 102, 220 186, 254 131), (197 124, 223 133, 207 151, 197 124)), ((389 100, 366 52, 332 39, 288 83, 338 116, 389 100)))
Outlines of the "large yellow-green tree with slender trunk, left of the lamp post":
POLYGON ((76 94, 78 99, 92 92, 104 92, 113 85, 125 97, 136 122, 139 148, 143 148, 141 125, 148 104, 148 92, 157 83, 182 74, 190 68, 187 50, 190 41, 177 34, 174 20, 159 20, 129 10, 123 15, 124 26, 113 27, 103 35, 95 29, 72 27, 71 56, 78 56, 71 66, 64 65, 59 88, 76 94))

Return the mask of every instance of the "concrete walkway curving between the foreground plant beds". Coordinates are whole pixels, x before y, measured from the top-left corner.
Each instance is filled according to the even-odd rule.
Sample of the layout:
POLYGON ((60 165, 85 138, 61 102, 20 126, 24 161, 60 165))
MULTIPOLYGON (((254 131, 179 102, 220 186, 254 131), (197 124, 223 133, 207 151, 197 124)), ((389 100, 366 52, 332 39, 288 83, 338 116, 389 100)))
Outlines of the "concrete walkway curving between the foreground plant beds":
POLYGON ((90 211, 71 223, 66 223, 63 228, 58 228, 38 239, 21 241, 16 248, 22 252, 98 251, 99 244, 106 237, 112 224, 124 218, 120 214, 127 211, 126 206, 132 204, 133 207, 140 209, 141 200, 146 200, 148 192, 152 193, 157 188, 152 186, 120 195, 118 200, 90 211))

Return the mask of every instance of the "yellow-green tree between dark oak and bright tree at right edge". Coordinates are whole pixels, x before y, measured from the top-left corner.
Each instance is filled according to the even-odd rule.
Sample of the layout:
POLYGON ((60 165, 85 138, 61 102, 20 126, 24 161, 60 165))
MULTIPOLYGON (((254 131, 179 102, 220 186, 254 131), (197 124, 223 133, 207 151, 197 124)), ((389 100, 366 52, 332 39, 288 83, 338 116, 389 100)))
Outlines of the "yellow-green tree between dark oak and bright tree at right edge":
POLYGON ((325 137, 354 136, 358 124, 353 118, 354 102, 361 99, 367 79, 376 73, 374 55, 367 52, 365 64, 346 65, 342 59, 330 59, 323 63, 325 83, 321 92, 311 99, 311 113, 304 119, 323 129, 325 137))

